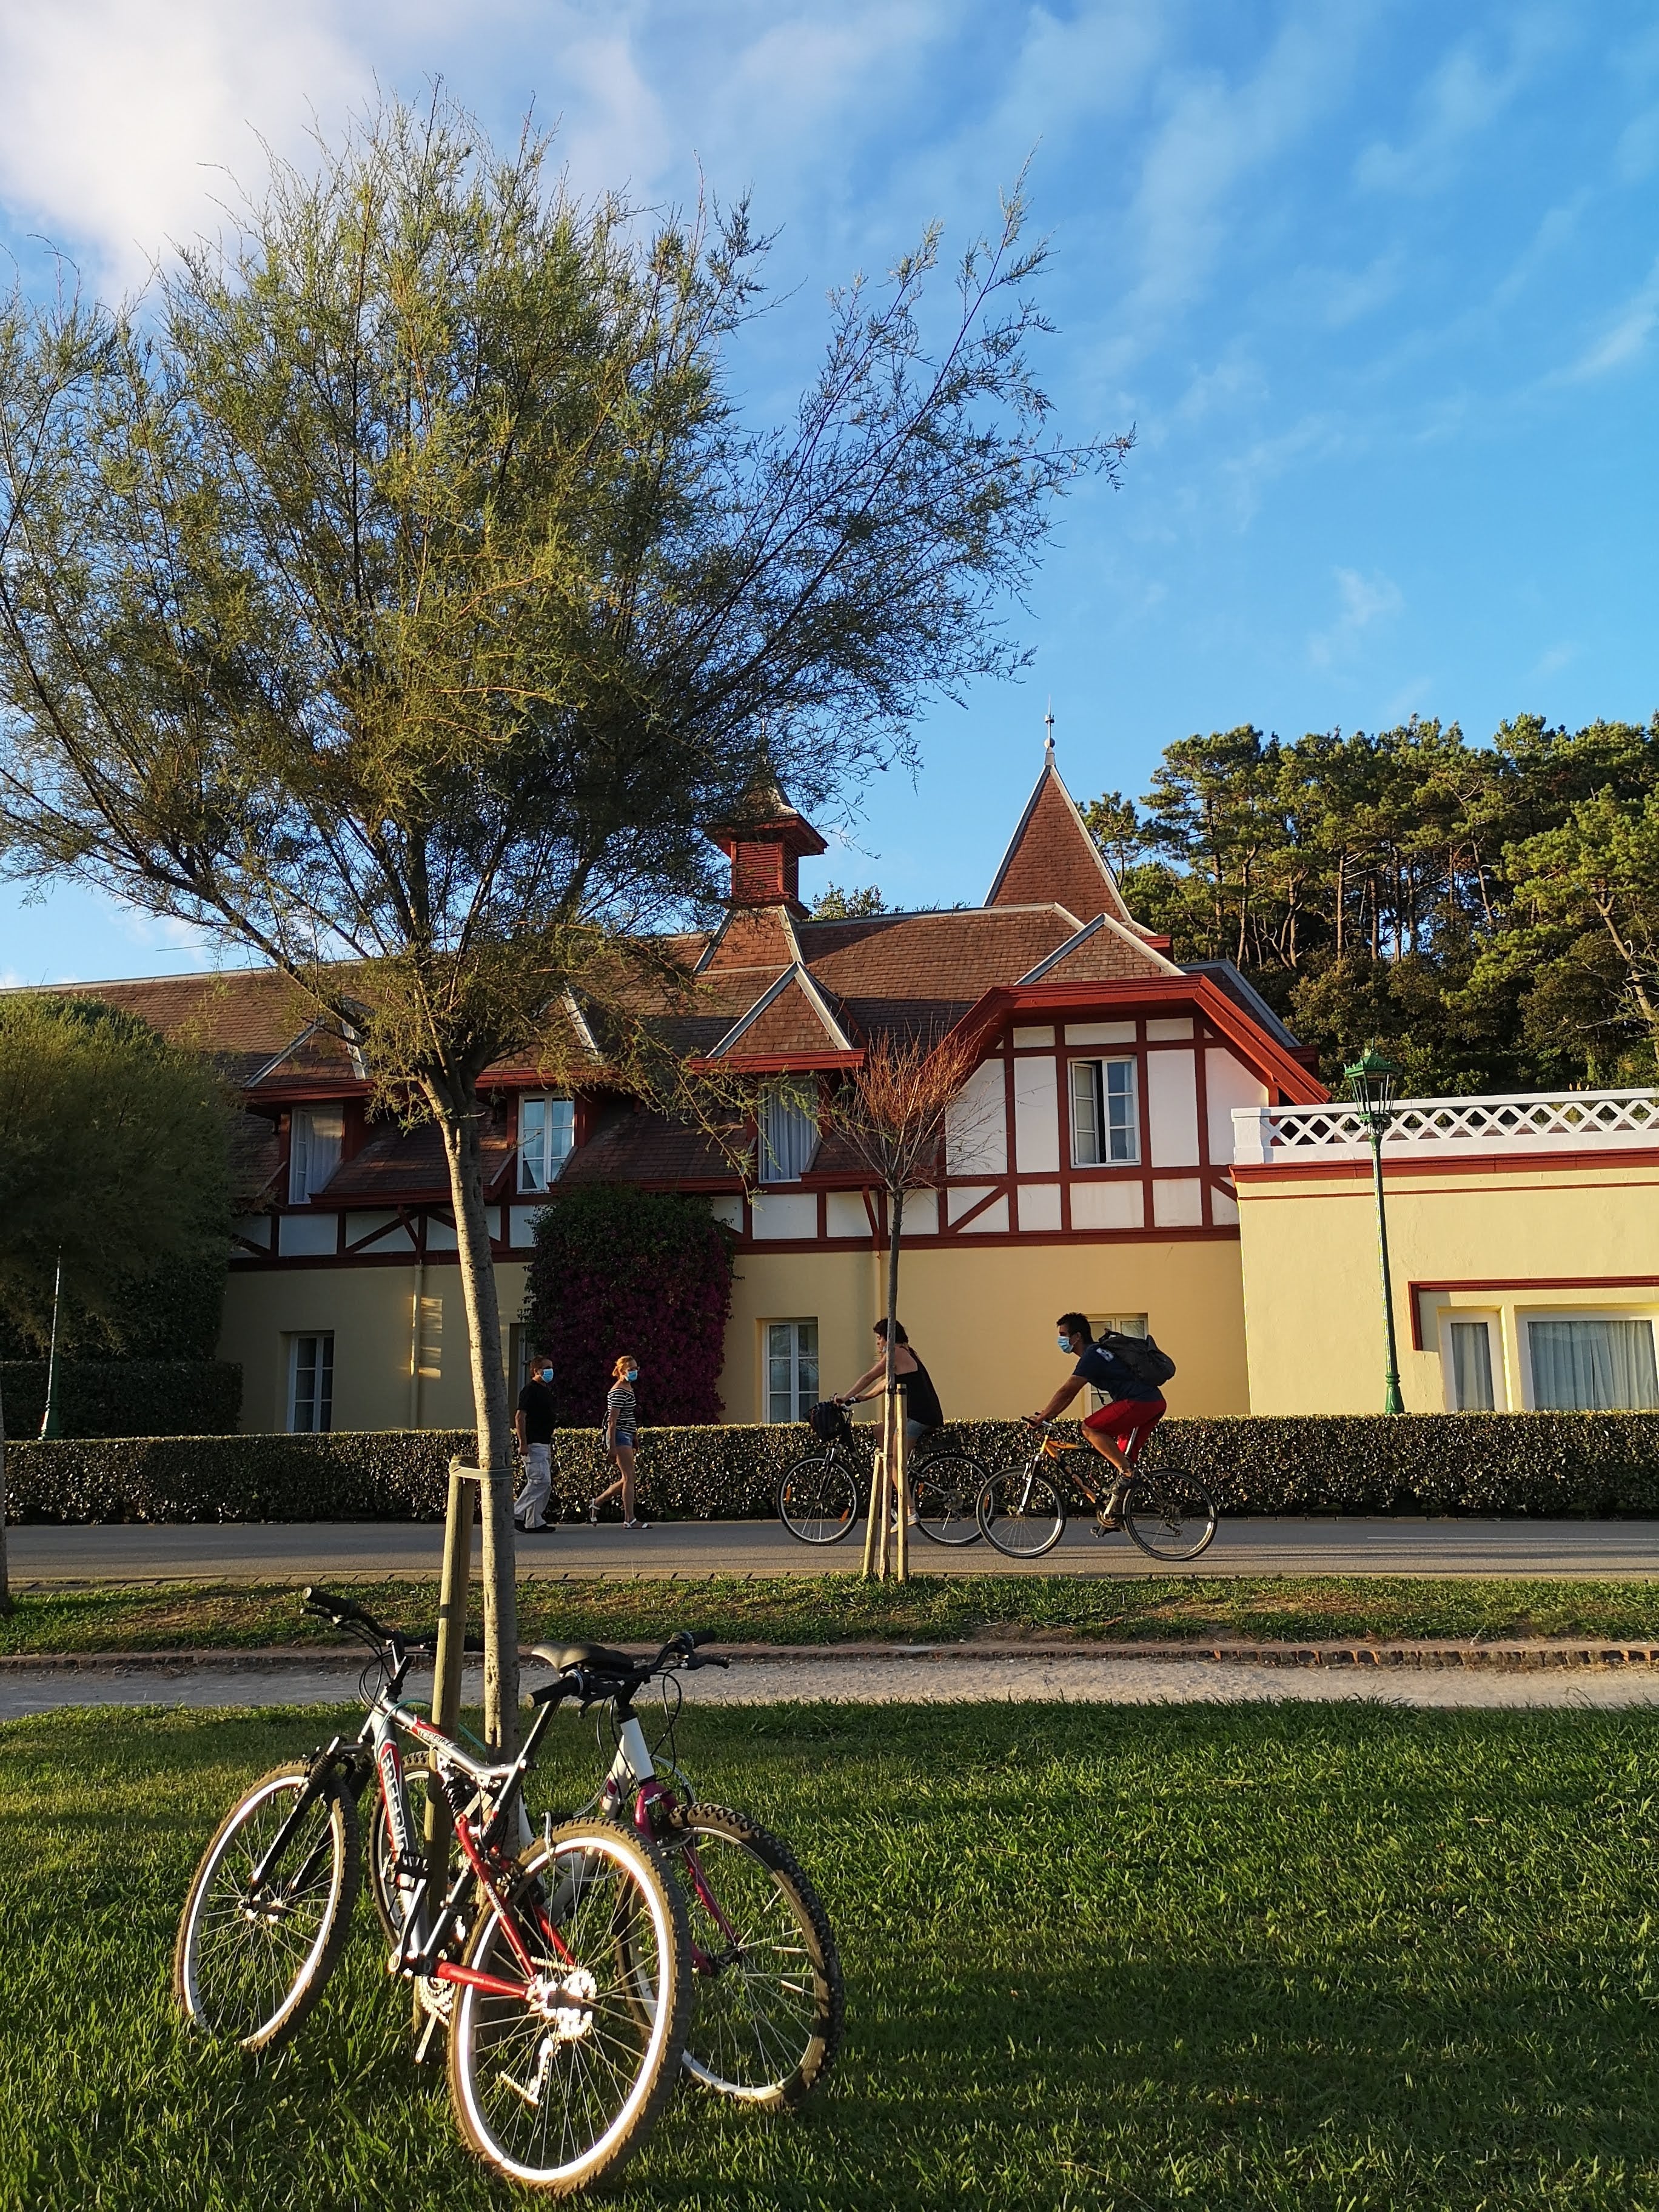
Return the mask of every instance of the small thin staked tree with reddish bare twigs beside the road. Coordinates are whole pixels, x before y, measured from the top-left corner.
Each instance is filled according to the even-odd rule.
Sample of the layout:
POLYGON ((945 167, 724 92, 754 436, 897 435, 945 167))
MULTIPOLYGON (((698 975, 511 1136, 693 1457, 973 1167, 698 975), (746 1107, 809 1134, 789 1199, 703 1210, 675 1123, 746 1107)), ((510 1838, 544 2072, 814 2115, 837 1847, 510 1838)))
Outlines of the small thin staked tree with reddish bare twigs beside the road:
POLYGON ((898 1254, 905 1239, 905 1199, 927 1190, 945 1175, 945 1144, 951 1108, 980 1057, 980 1040, 949 1031, 885 1033, 869 1040, 863 1062, 843 1084, 830 1091, 818 1108, 825 1135, 838 1139, 843 1152, 863 1166, 887 1194, 887 1358, 883 1378, 883 1458, 880 1480, 869 1498, 869 1533, 865 1537, 865 1573, 887 1575, 889 1502, 898 1513, 898 1579, 909 1579, 909 1546, 905 1535, 902 1493, 894 1486, 896 1460, 902 1451, 902 1418, 894 1385, 894 1349, 898 1338, 898 1254))

